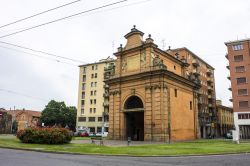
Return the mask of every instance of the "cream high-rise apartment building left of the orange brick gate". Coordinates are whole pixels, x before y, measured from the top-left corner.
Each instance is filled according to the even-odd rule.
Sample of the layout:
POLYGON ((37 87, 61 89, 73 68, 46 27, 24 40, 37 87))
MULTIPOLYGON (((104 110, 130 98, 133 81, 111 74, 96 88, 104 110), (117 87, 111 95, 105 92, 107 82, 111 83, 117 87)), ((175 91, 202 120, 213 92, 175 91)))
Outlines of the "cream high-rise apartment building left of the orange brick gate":
POLYGON ((108 131, 108 86, 114 59, 108 57, 99 62, 81 65, 79 74, 77 128, 90 132, 108 131))

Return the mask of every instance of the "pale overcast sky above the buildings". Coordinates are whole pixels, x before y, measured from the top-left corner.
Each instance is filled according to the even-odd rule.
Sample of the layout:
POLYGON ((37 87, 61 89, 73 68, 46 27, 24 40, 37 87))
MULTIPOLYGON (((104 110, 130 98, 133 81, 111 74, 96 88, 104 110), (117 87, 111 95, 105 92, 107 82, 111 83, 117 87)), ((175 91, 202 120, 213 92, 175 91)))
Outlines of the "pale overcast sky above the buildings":
MULTIPOLYGON (((72 1, 0 0, 0 26, 72 1)), ((0 28, 0 36, 116 1, 82 0, 0 28)), ((212 65, 217 99, 230 106, 224 42, 250 37, 249 18, 248 0, 128 0, 0 41, 90 63, 112 56, 135 24, 160 48, 163 40, 165 49, 187 47, 212 65)), ((79 64, 0 43, 0 108, 40 111, 51 99, 76 106, 79 64)))

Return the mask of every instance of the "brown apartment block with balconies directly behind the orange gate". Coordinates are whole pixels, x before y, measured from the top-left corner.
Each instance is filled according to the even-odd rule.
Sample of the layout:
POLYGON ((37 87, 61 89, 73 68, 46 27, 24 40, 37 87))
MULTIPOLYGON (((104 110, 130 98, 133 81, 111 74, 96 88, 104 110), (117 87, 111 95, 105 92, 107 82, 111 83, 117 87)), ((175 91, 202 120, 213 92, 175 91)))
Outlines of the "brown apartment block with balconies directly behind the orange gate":
POLYGON ((186 73, 200 81, 198 93, 198 117, 201 138, 217 136, 217 113, 214 68, 186 47, 171 49, 167 52, 178 58, 185 59, 188 66, 186 73))

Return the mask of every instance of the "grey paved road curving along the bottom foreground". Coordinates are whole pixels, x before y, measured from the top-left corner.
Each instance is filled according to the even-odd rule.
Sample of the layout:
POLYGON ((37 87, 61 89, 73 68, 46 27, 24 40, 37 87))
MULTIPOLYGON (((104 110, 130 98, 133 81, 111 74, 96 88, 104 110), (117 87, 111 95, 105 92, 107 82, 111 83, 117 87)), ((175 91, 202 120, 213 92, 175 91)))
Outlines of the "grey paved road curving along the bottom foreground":
POLYGON ((0 148, 0 166, 249 166, 250 154, 205 157, 115 157, 0 148))

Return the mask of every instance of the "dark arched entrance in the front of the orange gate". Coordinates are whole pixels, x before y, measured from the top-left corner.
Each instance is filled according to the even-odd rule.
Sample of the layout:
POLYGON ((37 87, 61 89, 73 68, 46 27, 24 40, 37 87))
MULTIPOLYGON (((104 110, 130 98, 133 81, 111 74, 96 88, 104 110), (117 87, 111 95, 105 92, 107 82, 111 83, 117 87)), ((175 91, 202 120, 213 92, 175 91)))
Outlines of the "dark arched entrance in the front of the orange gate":
POLYGON ((124 104, 126 136, 133 141, 144 140, 144 107, 138 96, 129 97, 124 104))

